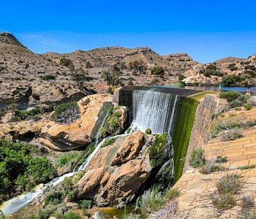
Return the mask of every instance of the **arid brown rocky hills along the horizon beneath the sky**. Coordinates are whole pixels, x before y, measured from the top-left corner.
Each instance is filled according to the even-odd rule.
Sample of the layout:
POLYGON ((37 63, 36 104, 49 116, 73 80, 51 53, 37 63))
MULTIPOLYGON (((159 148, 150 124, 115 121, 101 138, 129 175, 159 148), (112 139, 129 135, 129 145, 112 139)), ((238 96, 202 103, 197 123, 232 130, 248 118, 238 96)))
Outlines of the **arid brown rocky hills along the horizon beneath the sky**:
MULTIPOLYGON (((249 58, 228 57, 214 61, 211 64, 200 64, 191 58, 187 53, 171 53, 170 55, 159 55, 149 47, 125 48, 125 47, 102 47, 89 51, 76 50, 72 53, 45 53, 42 55, 33 53, 22 45, 18 39, 10 33, 0 34, 0 75, 1 81, 12 80, 37 80, 41 74, 57 74, 60 80, 69 80, 71 74, 68 66, 61 65, 61 59, 69 59, 75 69, 83 69, 91 74, 94 82, 102 82, 100 73, 114 64, 129 66, 133 61, 143 61, 148 66, 148 72, 154 66, 162 66, 165 75, 183 75, 184 82, 193 84, 203 82, 214 84, 222 80, 219 75, 231 74, 241 75, 248 71, 255 72, 256 55, 249 58), (214 71, 222 72, 217 74, 206 72, 206 69, 213 68, 214 71)), ((129 69, 124 69, 127 76, 131 74, 129 69)), ((134 78, 135 84, 148 85, 151 79, 141 81, 137 75, 130 75, 134 78), (137 81, 137 82, 136 82, 137 81), (143 84, 145 83, 145 84, 143 84)), ((156 83, 168 82, 155 81, 156 83)))

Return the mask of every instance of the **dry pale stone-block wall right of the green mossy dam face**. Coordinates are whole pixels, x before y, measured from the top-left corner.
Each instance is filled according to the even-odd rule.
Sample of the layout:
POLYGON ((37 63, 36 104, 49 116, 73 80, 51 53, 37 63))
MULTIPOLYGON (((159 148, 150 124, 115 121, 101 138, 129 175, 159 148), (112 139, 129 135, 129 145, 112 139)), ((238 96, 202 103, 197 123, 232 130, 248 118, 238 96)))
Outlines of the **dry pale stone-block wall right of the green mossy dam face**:
POLYGON ((191 132, 183 173, 186 172, 189 167, 189 155, 192 149, 203 147, 203 145, 206 144, 211 123, 215 118, 214 115, 222 112, 226 105, 226 99, 219 99, 217 96, 210 94, 207 94, 205 98, 200 101, 195 114, 195 121, 191 132))

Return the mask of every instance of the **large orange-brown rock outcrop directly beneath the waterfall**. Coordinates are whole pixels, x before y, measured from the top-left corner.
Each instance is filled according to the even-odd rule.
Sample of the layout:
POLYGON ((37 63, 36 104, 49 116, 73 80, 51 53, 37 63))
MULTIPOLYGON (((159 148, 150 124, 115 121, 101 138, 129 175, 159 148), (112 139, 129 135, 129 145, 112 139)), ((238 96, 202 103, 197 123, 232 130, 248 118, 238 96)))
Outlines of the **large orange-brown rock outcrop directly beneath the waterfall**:
POLYGON ((144 137, 141 131, 136 131, 116 137, 108 146, 103 147, 103 144, 78 182, 78 197, 94 199, 99 207, 116 204, 121 207, 133 201, 141 186, 152 177, 152 170, 165 162, 154 158, 159 159, 155 162, 159 165, 151 165, 148 150, 151 147, 166 150, 154 145, 155 142, 153 135, 144 137))

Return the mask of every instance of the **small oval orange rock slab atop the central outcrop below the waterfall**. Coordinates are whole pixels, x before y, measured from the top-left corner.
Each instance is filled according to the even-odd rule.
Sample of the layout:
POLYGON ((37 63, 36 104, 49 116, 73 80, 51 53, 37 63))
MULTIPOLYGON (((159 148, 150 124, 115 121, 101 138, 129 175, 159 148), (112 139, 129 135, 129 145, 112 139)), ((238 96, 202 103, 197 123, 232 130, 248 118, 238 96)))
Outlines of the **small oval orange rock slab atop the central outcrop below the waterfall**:
POLYGON ((125 163, 141 150, 145 142, 145 137, 142 131, 136 131, 134 134, 129 135, 127 139, 125 139, 124 143, 119 147, 116 156, 113 158, 111 165, 125 163))

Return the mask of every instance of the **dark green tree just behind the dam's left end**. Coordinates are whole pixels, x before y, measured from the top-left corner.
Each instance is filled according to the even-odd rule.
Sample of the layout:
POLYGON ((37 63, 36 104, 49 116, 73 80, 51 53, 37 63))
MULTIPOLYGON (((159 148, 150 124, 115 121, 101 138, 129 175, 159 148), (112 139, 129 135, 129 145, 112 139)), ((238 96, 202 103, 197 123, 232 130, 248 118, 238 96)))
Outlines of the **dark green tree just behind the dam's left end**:
POLYGON ((114 65, 102 73, 102 79, 107 82, 108 86, 119 86, 121 84, 121 69, 114 65))

